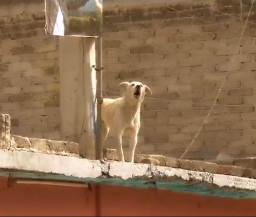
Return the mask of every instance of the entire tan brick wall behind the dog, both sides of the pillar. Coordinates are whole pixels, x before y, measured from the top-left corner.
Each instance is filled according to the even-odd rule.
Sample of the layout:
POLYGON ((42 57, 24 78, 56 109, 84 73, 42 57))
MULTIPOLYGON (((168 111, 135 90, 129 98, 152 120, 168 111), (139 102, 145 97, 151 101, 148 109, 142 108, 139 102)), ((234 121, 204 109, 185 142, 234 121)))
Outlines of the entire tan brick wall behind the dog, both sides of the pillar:
MULTIPOLYGON (((179 157, 199 130, 233 56, 251 0, 104 1, 104 88, 149 85, 137 152, 179 157), (188 17, 175 10, 197 16, 188 17), (211 24, 211 23, 216 23, 211 24)), ((250 22, 256 19, 256 5, 250 22)), ((44 3, 0 1, 0 112, 12 133, 59 139, 58 37, 44 34, 44 3)), ((218 103, 186 157, 256 154, 256 28, 248 24, 218 103)), ((109 97, 118 94, 108 92, 109 97)), ((112 146, 108 139, 106 145, 112 146)))

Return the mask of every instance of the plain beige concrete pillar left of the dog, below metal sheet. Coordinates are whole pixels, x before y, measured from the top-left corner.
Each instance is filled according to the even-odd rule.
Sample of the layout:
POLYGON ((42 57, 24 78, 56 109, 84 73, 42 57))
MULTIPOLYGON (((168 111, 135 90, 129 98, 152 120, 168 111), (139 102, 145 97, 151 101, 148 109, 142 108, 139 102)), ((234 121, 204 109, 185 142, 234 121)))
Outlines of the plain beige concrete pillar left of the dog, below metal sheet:
POLYGON ((61 139, 80 144, 80 154, 95 159, 95 39, 60 37, 61 139))

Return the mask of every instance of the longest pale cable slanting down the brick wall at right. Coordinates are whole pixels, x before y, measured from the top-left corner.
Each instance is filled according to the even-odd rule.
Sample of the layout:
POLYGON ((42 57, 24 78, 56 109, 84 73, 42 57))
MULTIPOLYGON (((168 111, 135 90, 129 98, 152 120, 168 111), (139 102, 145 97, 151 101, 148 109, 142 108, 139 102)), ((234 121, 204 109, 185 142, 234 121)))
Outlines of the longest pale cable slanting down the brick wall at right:
MULTIPOLYGON (((230 65, 233 63, 234 58, 235 58, 235 56, 236 56, 236 53, 237 53, 237 51, 238 51, 238 48, 239 48, 239 46, 240 46, 240 43, 241 43, 243 34, 244 34, 244 32, 245 32, 245 29, 246 29, 247 21, 248 21, 248 19, 249 19, 249 16, 250 16, 250 14, 251 14, 251 10, 252 10, 252 8, 253 8, 253 4, 254 4, 254 0, 252 1, 252 5, 251 5, 251 8, 250 8, 250 10, 249 10, 249 14, 248 14, 248 16, 247 16, 247 19, 246 19, 246 23, 245 23, 245 25, 244 25, 243 31, 242 31, 241 36, 240 36, 239 41, 238 41, 238 45, 237 45, 237 47, 236 47, 236 49, 235 49, 234 55, 233 55, 233 57, 232 57, 232 59, 231 59, 231 61, 230 61, 230 64, 229 64, 228 69, 230 68, 230 65)), ((221 82, 220 89, 219 89, 219 91, 218 91, 218 93, 217 93, 217 95, 216 95, 216 97, 215 97, 215 100, 214 100, 214 102, 213 102, 213 104, 212 104, 212 106, 211 106, 211 108, 210 108, 208 114, 206 115, 206 118, 204 119, 204 121, 203 121, 201 127, 199 128, 199 131, 197 132, 197 134, 195 135, 195 137, 193 138, 193 140, 192 140, 191 143, 188 145, 188 147, 186 148, 186 150, 183 152, 183 154, 180 156, 179 159, 181 159, 181 158, 186 154, 186 152, 188 151, 188 149, 191 147, 191 145, 193 145, 194 141, 196 140, 196 138, 198 137, 199 133, 200 133, 201 130, 203 129, 204 124, 207 122, 207 120, 208 120, 208 118, 209 118, 209 116, 210 116, 210 114, 211 114, 211 112, 212 112, 212 109, 213 109, 214 105, 215 105, 216 102, 217 102, 217 99, 218 99, 218 97, 219 97, 219 95, 220 95, 220 92, 221 92, 221 90, 222 90, 222 87, 223 87, 223 85, 224 85, 224 83, 225 83, 225 81, 226 81, 227 74, 228 74, 229 72, 230 72, 230 70, 228 70, 228 71, 225 73, 226 76, 224 76, 224 78, 223 78, 223 80, 222 80, 222 82, 221 82)))

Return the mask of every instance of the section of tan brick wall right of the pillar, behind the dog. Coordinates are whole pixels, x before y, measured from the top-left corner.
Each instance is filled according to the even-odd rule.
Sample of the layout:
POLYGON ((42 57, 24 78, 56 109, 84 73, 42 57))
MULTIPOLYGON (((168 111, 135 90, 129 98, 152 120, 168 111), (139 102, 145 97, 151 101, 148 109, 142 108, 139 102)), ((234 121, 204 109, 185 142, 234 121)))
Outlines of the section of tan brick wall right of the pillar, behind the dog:
MULTIPOLYGON (((249 18, 254 24, 247 24, 229 66, 245 24, 241 18, 247 18, 251 0, 204 1, 237 19, 209 10, 202 2, 103 3, 104 88, 118 91, 120 82, 139 80, 151 87, 153 97, 168 100, 146 98, 137 152, 180 157, 226 77, 217 103, 231 106, 213 108, 185 157, 256 154, 256 3, 249 18)), ((109 139, 107 145, 111 144, 109 139)))

